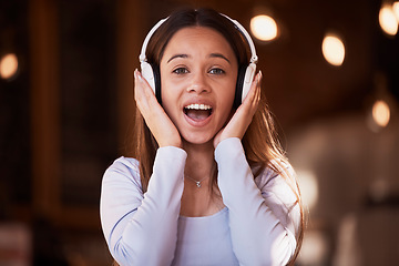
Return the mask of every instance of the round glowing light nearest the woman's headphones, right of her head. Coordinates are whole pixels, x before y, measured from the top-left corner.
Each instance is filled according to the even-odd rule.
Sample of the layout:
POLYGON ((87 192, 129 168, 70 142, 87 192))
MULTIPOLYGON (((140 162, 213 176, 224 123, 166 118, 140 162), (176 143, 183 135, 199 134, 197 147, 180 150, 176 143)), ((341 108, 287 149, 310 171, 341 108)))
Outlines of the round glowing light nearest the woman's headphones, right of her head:
POLYGON ((277 37, 276 21, 265 14, 259 14, 250 20, 250 31, 262 41, 270 41, 277 37))

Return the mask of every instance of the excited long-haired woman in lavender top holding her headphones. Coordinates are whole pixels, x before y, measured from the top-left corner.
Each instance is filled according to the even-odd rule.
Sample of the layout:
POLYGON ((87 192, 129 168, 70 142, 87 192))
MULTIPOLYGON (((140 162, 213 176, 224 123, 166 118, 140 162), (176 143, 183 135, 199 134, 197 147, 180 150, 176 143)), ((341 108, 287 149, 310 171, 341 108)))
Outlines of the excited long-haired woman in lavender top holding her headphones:
POLYGON ((120 265, 293 263, 300 194, 260 96, 260 72, 234 106, 249 64, 245 35, 207 9, 175 12, 150 35, 141 60, 155 85, 134 72, 134 158, 116 160, 103 177, 112 256, 120 265))

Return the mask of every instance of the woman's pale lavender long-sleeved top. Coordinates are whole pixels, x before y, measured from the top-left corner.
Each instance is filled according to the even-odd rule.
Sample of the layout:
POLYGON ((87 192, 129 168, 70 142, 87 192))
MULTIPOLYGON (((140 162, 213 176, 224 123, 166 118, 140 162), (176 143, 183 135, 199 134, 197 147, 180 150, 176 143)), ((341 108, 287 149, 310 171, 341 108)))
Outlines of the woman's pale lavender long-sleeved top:
POLYGON ((239 139, 215 150, 225 208, 204 217, 180 216, 186 153, 157 150, 147 192, 139 162, 120 157, 105 172, 100 214, 112 256, 132 265, 286 265, 300 224, 287 182, 266 168, 254 178, 239 139))

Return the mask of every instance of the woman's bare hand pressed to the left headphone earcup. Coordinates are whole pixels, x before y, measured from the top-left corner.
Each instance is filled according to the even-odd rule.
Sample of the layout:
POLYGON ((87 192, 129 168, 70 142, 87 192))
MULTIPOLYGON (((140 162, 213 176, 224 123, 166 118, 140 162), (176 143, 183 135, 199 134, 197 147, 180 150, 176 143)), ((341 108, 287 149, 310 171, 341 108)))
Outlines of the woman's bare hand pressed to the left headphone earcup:
POLYGON ((182 147, 182 137, 139 70, 134 71, 134 100, 160 147, 182 147))

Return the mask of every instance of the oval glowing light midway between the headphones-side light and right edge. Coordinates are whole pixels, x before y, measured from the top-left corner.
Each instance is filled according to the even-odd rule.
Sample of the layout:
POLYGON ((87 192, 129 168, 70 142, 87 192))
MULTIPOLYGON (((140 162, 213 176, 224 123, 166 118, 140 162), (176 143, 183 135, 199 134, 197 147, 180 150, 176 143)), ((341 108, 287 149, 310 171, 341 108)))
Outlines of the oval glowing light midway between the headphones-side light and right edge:
POLYGON ((344 42, 335 35, 326 35, 321 44, 323 55, 328 63, 341 65, 345 59, 344 42))

